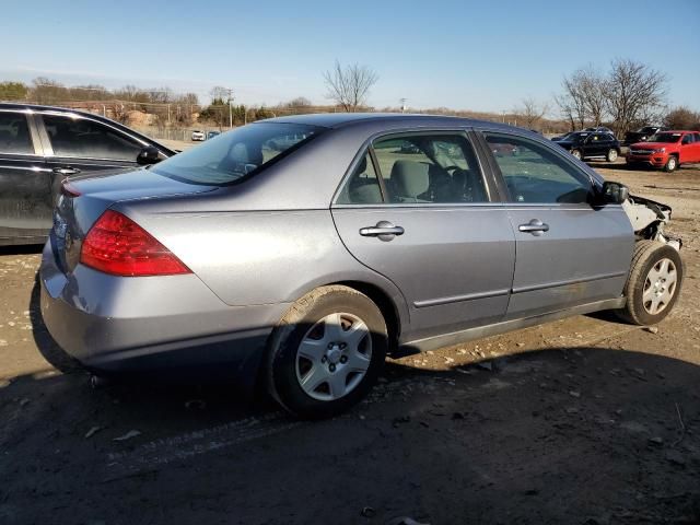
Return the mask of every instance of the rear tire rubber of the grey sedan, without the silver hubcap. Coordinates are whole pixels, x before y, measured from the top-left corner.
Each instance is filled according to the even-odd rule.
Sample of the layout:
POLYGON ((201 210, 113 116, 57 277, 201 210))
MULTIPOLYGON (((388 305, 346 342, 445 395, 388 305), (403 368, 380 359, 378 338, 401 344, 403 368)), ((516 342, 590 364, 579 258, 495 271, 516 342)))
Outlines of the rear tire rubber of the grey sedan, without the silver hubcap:
POLYGON ((382 312, 370 298, 342 285, 318 288, 292 305, 270 337, 267 361, 268 390, 283 408, 301 418, 320 419, 343 412, 363 399, 376 382, 384 365, 387 339, 382 312), (370 364, 357 386, 345 396, 332 400, 318 400, 311 397, 300 384, 298 351, 310 330, 319 320, 335 313, 357 316, 366 325, 370 331, 368 337, 371 337, 370 364))

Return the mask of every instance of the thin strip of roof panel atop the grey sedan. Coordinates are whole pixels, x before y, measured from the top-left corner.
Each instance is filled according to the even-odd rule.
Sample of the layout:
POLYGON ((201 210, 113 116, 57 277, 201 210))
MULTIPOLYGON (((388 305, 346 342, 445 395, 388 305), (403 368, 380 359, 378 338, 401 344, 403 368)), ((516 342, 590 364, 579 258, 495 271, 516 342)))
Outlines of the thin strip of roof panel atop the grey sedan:
MULTIPOLYGON (((489 120, 474 118, 452 117, 447 115, 425 115, 410 113, 318 113, 308 115, 291 115, 287 117, 269 118, 259 122, 303 124, 323 128, 341 128, 353 124, 387 122, 392 125, 407 126, 440 126, 440 127, 503 127, 512 129, 512 126, 489 120)), ((518 128, 523 129, 524 128, 518 128)))

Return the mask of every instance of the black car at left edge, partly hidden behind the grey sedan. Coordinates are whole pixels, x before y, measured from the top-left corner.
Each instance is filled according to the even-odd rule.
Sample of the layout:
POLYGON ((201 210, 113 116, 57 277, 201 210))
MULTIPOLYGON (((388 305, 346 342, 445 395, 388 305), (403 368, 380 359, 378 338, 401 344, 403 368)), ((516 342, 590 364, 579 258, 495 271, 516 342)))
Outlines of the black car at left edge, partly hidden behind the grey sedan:
POLYGON ((133 168, 174 154, 98 115, 0 104, 0 245, 46 241, 66 177, 133 168))

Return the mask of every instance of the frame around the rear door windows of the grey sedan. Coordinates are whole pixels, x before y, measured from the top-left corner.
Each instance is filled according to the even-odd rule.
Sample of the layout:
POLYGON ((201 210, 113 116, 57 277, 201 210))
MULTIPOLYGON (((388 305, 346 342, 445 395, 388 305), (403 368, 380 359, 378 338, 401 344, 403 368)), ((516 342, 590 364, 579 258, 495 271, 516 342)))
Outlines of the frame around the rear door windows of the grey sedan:
POLYGON ((393 130, 384 130, 377 133, 372 135, 368 140, 365 140, 353 158, 352 162, 346 170, 345 175, 342 176, 340 184, 336 188, 336 191, 331 198, 331 208, 464 208, 464 207, 493 207, 494 205, 501 205, 500 198, 500 188, 493 183, 490 177, 491 172, 486 170, 485 163, 482 162, 482 153, 479 151, 479 141, 478 138, 475 137, 474 129, 469 128, 410 128, 410 129, 393 129, 393 130), (404 137, 425 137, 425 136, 455 136, 462 137, 467 141, 467 144, 471 148, 474 152, 474 158, 477 162, 477 167, 479 168, 481 179, 483 180, 483 188, 487 194, 488 200, 485 202, 388 202, 387 201, 387 192, 386 185, 384 183, 384 176, 382 175, 382 171, 380 168, 378 160, 376 159, 376 154, 374 151, 374 143, 381 140, 386 139, 400 139, 404 137), (345 186, 349 184, 350 177, 354 174, 354 170, 361 162, 362 158, 370 153, 370 158, 372 160, 372 165, 376 173, 380 188, 382 190, 382 202, 377 203, 339 203, 338 198, 340 197, 341 191, 345 189, 345 186))

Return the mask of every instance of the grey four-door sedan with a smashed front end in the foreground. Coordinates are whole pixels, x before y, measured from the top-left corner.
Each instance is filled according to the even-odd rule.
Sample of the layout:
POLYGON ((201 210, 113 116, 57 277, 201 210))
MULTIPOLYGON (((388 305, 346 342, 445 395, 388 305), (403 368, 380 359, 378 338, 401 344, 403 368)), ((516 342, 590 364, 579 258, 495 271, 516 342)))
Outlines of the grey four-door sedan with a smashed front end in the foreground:
POLYGON ((684 271, 670 208, 529 131, 453 117, 264 120, 70 178, 56 215, 40 304, 66 352, 102 375, 260 377, 312 418, 362 399, 389 351, 599 310, 657 323, 684 271))

